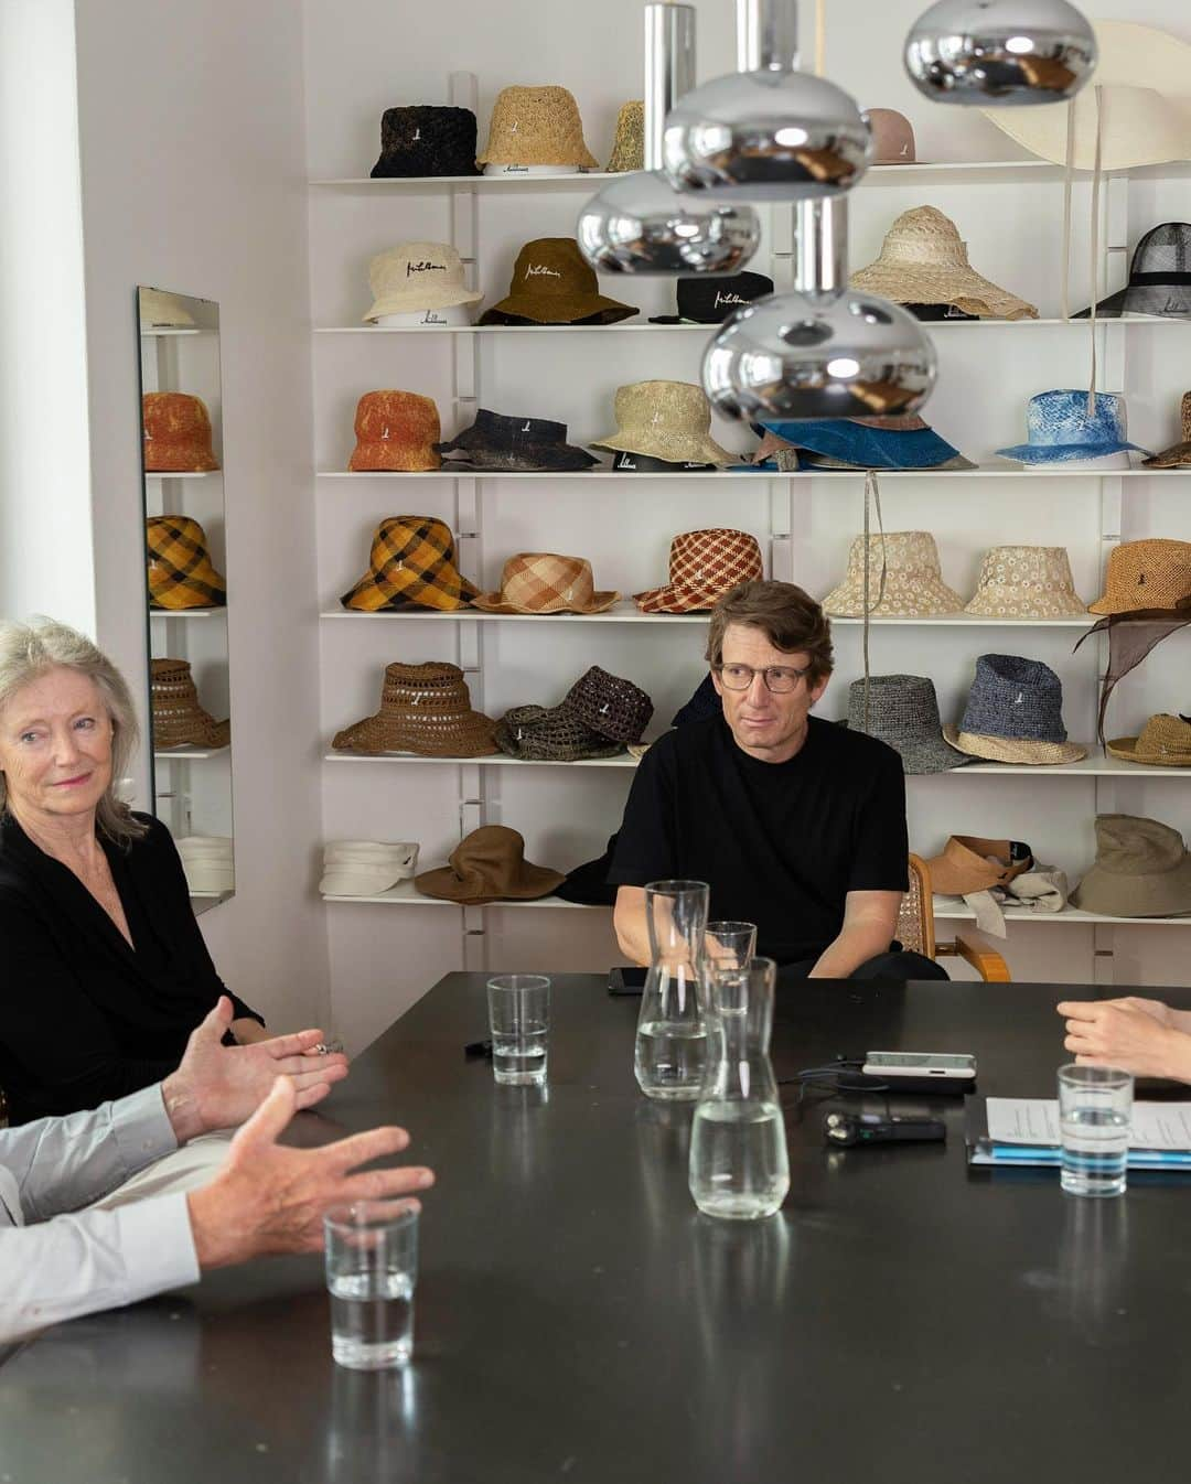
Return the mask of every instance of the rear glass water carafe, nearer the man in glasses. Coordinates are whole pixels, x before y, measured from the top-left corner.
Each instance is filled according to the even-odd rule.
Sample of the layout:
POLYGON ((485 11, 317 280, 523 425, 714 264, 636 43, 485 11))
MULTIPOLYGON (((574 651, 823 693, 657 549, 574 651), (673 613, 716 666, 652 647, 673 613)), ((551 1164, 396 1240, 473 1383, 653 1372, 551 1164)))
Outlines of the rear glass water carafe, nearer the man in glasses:
POLYGON ((707 1031, 698 984, 708 895, 705 881, 650 881, 645 889, 649 974, 633 1070, 649 1098, 694 1103, 699 1095, 707 1031))

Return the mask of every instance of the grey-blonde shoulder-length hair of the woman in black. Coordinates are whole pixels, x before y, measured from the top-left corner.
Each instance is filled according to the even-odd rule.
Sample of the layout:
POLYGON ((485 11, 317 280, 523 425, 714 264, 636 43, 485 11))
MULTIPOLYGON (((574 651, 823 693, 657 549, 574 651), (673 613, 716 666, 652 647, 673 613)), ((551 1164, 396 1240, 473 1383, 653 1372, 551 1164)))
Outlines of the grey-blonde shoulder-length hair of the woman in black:
MULTIPOLYGON (((95 824, 117 844, 129 846, 146 834, 147 827, 116 794, 116 784, 123 778, 141 732, 128 681, 86 634, 67 623, 56 623, 53 619, 37 619, 33 623, 0 620, 0 711, 18 690, 52 669, 73 669, 86 675, 102 697, 111 718, 111 778, 95 806, 95 824)), ((0 773, 0 815, 7 813, 9 791, 4 775, 0 773)))

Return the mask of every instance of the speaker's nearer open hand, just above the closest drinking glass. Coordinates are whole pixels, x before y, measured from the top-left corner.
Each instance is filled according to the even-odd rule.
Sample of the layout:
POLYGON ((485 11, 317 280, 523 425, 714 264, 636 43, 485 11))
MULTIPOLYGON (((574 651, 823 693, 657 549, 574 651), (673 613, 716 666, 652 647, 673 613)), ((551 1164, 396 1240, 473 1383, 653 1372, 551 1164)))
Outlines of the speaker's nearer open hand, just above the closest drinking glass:
POLYGON ((211 1184, 186 1198, 199 1267, 267 1252, 319 1252, 322 1217, 331 1206, 399 1201, 434 1184, 432 1171, 413 1166, 352 1174, 371 1159, 399 1155, 410 1143, 404 1128, 374 1128, 322 1149, 278 1144, 297 1106, 297 1079, 278 1077, 232 1140, 211 1184))

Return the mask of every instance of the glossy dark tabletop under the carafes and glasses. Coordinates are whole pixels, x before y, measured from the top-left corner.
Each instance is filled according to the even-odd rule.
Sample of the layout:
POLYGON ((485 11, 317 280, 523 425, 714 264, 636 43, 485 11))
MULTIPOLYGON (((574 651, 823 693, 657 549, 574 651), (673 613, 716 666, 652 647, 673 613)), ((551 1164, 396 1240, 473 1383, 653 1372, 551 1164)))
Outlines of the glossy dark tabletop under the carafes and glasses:
MULTIPOLYGON (((3 1484, 1188 1478, 1191 1186, 1090 1202, 1053 1172, 968 1172, 958 1100, 930 1104, 946 1147, 827 1150, 820 1106, 787 1119, 783 1212, 711 1221, 689 1107, 633 1080, 639 1002, 557 976, 542 1095, 463 1060, 483 984, 443 979, 327 1109, 405 1123, 438 1171, 414 1365, 333 1365, 315 1258, 214 1273, 19 1350, 3 1484)), ((774 1061, 971 1051, 985 1094, 1048 1097, 1074 993, 1094 994, 808 984, 780 1002, 774 1061)))

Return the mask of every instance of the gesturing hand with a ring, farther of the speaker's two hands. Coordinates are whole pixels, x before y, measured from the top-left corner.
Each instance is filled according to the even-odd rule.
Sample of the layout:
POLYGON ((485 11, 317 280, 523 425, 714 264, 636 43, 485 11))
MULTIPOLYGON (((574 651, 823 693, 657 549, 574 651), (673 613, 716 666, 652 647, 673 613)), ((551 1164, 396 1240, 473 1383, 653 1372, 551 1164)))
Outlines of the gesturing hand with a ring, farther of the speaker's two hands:
POLYGON ((235 1128, 260 1107, 278 1076, 293 1079, 296 1107, 309 1109, 347 1076, 347 1058, 336 1052, 306 1055, 321 1030, 300 1030, 251 1046, 221 1045, 232 1024, 226 994, 190 1033, 178 1070, 162 1083, 162 1097, 180 1144, 215 1128, 235 1128))

